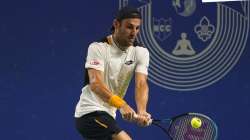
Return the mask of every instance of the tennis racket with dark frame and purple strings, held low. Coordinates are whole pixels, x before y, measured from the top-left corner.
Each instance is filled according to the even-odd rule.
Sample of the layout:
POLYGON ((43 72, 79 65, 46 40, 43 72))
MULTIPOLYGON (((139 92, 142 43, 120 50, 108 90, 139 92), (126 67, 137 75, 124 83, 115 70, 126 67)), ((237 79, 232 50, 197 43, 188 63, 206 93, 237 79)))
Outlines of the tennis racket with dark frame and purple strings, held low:
POLYGON ((162 129, 171 140, 216 140, 217 125, 208 116, 200 113, 185 113, 171 119, 152 119, 151 125, 162 129), (201 120, 201 126, 194 128, 191 120, 201 120))

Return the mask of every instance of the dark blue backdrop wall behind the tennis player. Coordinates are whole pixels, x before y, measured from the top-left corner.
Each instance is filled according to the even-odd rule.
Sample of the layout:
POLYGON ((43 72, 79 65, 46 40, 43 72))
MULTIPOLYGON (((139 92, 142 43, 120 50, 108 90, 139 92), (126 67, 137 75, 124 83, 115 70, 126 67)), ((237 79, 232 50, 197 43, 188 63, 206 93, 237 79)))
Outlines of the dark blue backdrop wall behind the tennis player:
MULTIPOLYGON (((175 0, 154 1, 154 3, 147 0, 1 1, 1 139, 81 139, 75 130, 73 115, 83 87, 86 50, 89 43, 109 34, 114 14, 120 6, 126 5, 126 2, 139 7, 145 12, 145 17, 152 18, 152 20, 144 19, 144 23, 149 26, 142 29, 146 35, 138 38, 152 52, 149 112, 155 117, 174 116, 183 112, 204 113, 217 123, 219 140, 250 139, 248 134, 250 130, 249 21, 230 23, 230 19, 237 15, 249 20, 249 3, 228 2, 217 5, 216 3, 201 4, 200 0, 196 0, 196 7, 191 4, 191 10, 185 7, 187 5, 183 3, 184 0, 181 0, 179 6, 175 0), (149 6, 151 6, 150 15, 147 13, 149 6), (230 8, 238 12, 232 14, 230 8), (223 12, 226 14, 219 16, 218 13, 223 12), (209 19, 210 24, 202 20, 202 17, 209 19), (225 21, 222 20, 224 18, 225 21), (218 21, 221 21, 220 24, 218 21), (203 34, 202 40, 202 37, 199 38, 198 33, 195 32, 195 25, 213 27, 209 26, 211 32, 203 34), (227 30, 224 25, 232 26, 233 29, 239 27, 239 31, 231 28, 227 30), (149 35, 147 30, 151 27, 152 34, 149 35), (172 54, 182 32, 188 34, 197 57, 172 54), (227 72, 222 71, 220 75, 216 75, 217 73, 211 75, 210 77, 214 79, 204 84, 200 83, 206 79, 188 79, 188 77, 185 79, 185 75, 190 74, 185 71, 188 66, 183 67, 183 71, 176 68, 176 73, 173 74, 175 77, 172 79, 164 79, 161 75, 171 75, 171 71, 164 71, 172 68, 168 65, 170 63, 176 62, 174 67, 180 67, 178 64, 183 62, 185 66, 187 61, 198 59, 199 54, 202 56, 207 50, 215 49, 211 45, 217 41, 214 37, 225 36, 226 38, 226 35, 235 35, 236 39, 231 36, 229 40, 238 38, 239 42, 232 46, 230 46, 231 43, 221 45, 225 50, 227 46, 241 48, 239 50, 241 53, 230 52, 237 54, 238 60, 234 60, 235 63, 229 67, 224 66, 227 72), (148 43, 149 37, 155 42, 148 43), (165 68, 158 64, 157 61, 160 60, 157 60, 156 56, 157 54, 161 56, 161 52, 155 53, 154 48, 150 47, 155 43, 161 46, 161 52, 165 52, 167 58, 177 61, 167 62, 168 60, 162 59, 164 61, 162 63, 166 63, 165 68), (159 69, 155 72, 158 66, 163 70, 159 69), (180 73, 184 72, 183 81, 187 82, 184 82, 185 86, 182 86, 179 78, 181 74, 177 72, 178 70, 180 73), (197 84, 194 86, 189 83, 189 80, 200 81, 198 84, 193 82, 197 84)), ((240 17, 239 21, 241 21, 240 17)), ((197 28, 197 31, 201 31, 201 28, 197 28)), ((223 38, 220 42, 223 44, 223 38)), ((214 46, 221 47, 216 43, 214 46)), ((223 61, 226 62, 226 60, 223 61)), ((218 67, 211 68, 210 73, 218 67)), ((134 86, 131 84, 126 100, 132 106, 134 106, 133 97, 134 86)), ((120 116, 118 121, 135 140, 166 139, 165 134, 154 126, 140 128, 135 124, 124 122, 120 116)))

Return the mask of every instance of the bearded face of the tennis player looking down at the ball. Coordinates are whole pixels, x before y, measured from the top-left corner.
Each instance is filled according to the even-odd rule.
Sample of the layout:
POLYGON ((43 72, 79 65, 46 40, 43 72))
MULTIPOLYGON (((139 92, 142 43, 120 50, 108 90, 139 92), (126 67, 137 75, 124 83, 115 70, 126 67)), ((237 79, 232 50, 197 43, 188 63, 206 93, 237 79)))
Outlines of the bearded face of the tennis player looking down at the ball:
POLYGON ((119 44, 122 46, 133 45, 135 38, 139 32, 141 19, 139 18, 128 18, 121 22, 117 21, 117 32, 116 37, 119 44))

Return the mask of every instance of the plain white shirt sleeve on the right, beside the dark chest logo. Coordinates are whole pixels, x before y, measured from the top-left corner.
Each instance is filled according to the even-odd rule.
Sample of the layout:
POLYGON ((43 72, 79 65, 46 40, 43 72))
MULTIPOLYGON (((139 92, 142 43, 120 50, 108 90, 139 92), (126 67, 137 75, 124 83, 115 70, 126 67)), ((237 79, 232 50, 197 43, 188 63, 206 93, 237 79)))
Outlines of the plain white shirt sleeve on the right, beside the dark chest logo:
POLYGON ((148 67, 149 67, 148 50, 143 47, 136 47, 136 60, 137 60, 137 65, 135 72, 140 72, 145 75, 148 75, 148 67))

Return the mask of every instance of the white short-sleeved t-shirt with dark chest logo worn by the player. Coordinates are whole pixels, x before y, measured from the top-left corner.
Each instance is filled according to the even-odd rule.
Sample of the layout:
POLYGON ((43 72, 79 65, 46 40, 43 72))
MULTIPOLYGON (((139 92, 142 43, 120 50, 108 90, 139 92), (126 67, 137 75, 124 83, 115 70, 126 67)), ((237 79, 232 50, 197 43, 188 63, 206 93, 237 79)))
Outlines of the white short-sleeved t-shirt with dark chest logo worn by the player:
MULTIPOLYGON (((123 98, 134 72, 148 74, 149 52, 146 48, 130 46, 126 51, 120 50, 114 43, 112 36, 107 42, 94 42, 88 48, 85 68, 102 71, 104 83, 116 95, 123 98)), ((99 98, 89 85, 82 88, 80 100, 77 103, 75 117, 93 111, 106 111, 114 118, 116 108, 99 98)))

